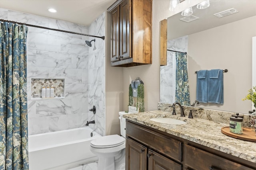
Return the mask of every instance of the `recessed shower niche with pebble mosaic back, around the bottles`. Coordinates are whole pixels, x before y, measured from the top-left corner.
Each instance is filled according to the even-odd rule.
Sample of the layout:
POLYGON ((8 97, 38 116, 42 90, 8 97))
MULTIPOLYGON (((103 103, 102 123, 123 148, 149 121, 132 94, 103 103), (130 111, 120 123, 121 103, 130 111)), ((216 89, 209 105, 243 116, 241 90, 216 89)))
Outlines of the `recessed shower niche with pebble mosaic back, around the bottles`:
POLYGON ((31 99, 63 99, 65 98, 65 79, 64 78, 31 78, 31 99), (42 98, 42 88, 53 86, 54 98, 42 98))

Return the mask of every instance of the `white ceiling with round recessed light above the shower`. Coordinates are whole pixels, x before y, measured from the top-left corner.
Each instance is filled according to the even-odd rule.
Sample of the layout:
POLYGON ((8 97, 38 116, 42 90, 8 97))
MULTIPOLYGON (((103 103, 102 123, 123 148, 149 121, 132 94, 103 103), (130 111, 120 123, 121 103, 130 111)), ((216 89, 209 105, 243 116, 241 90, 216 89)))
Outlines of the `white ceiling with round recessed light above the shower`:
POLYGON ((90 25, 116 0, 0 0, 0 8, 90 25), (54 8, 56 13, 48 12, 54 8))

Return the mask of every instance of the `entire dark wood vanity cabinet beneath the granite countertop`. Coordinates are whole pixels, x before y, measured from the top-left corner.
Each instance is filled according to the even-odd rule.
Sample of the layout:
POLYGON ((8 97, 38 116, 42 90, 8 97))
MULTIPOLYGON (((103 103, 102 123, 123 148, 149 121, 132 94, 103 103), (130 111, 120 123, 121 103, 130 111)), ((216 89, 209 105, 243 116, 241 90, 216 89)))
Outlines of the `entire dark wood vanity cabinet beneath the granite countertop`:
POLYGON ((126 119, 126 170, 256 170, 256 163, 126 119))

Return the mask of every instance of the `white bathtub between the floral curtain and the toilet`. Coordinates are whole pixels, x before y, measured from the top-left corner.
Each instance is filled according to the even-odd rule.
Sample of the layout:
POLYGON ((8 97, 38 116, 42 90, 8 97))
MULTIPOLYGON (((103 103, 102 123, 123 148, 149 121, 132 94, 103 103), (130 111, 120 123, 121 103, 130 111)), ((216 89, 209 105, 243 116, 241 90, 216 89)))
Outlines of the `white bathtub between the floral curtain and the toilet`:
POLYGON ((90 127, 29 135, 29 169, 68 170, 97 160, 90 151, 90 141, 98 137, 101 135, 90 127))

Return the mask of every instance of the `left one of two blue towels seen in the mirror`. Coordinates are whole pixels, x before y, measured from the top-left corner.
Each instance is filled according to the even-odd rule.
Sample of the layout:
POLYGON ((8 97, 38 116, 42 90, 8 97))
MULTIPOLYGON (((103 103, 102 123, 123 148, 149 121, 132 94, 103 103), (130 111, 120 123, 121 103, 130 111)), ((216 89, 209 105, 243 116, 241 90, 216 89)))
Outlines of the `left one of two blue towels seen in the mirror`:
POLYGON ((199 70, 196 73, 196 100, 208 103, 208 70, 199 70))

